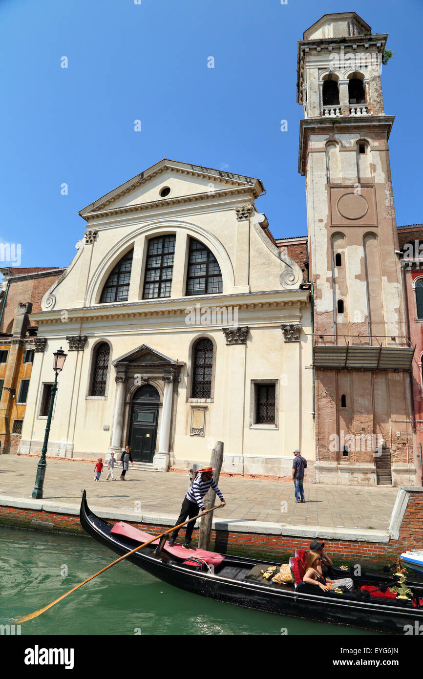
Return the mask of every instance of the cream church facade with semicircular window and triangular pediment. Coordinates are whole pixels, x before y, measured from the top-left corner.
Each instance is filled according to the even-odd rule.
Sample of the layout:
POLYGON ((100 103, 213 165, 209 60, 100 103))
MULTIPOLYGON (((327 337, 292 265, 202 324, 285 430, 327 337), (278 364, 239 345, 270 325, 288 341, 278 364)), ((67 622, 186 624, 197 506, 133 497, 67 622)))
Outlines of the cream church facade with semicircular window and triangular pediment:
POLYGON ((255 199, 258 179, 162 160, 81 210, 88 223, 39 326, 20 452, 290 473, 314 450, 310 291, 255 199), (42 344, 42 346, 41 346, 42 344), (54 375, 53 375, 54 376, 54 375), (304 414, 307 414, 305 417, 304 414))

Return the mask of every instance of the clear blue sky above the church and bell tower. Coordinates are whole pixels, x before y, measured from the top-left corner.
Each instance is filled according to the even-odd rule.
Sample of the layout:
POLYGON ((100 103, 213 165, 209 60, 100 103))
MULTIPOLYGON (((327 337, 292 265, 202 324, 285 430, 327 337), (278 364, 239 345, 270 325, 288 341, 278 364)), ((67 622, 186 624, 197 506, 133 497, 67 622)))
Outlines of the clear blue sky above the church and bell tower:
POLYGON ((22 266, 68 265, 78 210, 165 157, 259 177, 274 236, 306 234, 297 40, 350 10, 390 34, 397 223, 423 221, 421 0, 1 0, 0 242, 21 244, 22 266))

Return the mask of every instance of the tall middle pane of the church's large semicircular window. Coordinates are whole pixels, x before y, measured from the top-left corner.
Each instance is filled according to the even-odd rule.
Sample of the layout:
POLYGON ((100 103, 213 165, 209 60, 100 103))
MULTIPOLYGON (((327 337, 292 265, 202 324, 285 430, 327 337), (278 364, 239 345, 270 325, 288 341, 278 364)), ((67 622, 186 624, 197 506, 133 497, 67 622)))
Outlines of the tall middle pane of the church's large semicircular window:
POLYGON ((143 299, 170 297, 175 239, 174 235, 149 239, 143 299))

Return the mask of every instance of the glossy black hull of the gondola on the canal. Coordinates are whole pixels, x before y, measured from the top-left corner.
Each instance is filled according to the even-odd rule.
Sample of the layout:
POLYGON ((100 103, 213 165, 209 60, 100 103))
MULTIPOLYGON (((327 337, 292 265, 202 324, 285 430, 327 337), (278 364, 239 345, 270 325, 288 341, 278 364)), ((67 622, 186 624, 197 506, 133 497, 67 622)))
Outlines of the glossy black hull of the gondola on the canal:
MULTIPOLYGON (((88 508, 86 494, 81 502, 81 526, 98 543, 109 547, 118 555, 129 549, 119 536, 109 534, 111 524, 94 515, 88 508)), ((228 556, 231 564, 253 568, 257 559, 228 556)), ((148 547, 128 557, 135 566, 143 568, 151 575, 168 585, 206 596, 210 599, 236 604, 244 608, 253 608, 284 616, 292 616, 309 621, 320 621, 337 625, 353 625, 385 634, 405 634, 406 625, 414 625, 415 621, 423 623, 423 608, 413 608, 411 604, 386 602, 383 599, 371 598, 362 600, 351 595, 335 593, 319 594, 303 593, 298 589, 269 587, 252 581, 236 581, 219 574, 196 572, 178 563, 165 563, 152 555, 148 547)), ((226 563, 226 560, 225 560, 226 563)))

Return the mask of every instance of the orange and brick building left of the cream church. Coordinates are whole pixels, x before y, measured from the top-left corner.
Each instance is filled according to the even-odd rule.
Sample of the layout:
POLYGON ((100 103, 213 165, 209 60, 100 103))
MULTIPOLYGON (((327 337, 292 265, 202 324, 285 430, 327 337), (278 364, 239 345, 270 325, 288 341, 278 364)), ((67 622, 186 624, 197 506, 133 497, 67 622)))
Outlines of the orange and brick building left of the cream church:
POLYGON ((16 453, 37 350, 38 328, 29 314, 41 310, 41 297, 65 269, 5 267, 0 272, 0 443, 1 452, 16 453))

